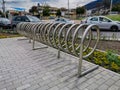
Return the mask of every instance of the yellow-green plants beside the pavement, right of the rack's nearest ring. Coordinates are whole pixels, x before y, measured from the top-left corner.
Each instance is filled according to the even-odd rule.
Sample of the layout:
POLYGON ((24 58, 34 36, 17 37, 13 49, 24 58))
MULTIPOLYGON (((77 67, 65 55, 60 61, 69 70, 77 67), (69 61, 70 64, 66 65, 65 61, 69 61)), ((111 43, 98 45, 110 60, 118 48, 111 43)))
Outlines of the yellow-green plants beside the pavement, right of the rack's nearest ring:
POLYGON ((116 55, 113 50, 107 52, 95 51, 86 60, 120 73, 120 56, 116 55))

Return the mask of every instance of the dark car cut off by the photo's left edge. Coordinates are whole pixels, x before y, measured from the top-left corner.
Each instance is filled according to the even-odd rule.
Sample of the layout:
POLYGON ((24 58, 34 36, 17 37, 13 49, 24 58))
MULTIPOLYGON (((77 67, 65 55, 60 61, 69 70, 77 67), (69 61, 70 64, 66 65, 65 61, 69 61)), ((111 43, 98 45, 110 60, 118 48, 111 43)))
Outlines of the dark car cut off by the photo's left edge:
POLYGON ((7 18, 0 18, 0 29, 10 29, 11 28, 11 22, 7 18))

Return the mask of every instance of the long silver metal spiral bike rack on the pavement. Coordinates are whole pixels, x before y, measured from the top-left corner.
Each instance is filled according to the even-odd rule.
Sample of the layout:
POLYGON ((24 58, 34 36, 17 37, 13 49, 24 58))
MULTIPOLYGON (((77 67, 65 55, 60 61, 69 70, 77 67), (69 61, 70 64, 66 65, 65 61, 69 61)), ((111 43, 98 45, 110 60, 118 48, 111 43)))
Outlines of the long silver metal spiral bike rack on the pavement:
POLYGON ((27 37, 30 42, 33 40, 33 50, 37 49, 35 48, 35 41, 37 41, 56 48, 58 50, 58 58, 60 58, 60 51, 79 57, 79 77, 98 68, 98 65, 95 65, 95 67, 82 72, 83 58, 90 56, 99 42, 99 28, 94 24, 24 22, 17 25, 17 31, 27 37), (96 31, 93 32, 93 28, 96 31))

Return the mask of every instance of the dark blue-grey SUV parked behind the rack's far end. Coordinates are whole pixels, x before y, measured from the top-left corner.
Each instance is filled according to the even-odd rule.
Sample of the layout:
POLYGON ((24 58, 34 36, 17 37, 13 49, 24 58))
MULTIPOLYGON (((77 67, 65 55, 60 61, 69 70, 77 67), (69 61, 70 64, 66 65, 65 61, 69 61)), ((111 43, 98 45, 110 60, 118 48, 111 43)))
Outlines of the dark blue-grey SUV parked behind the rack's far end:
POLYGON ((37 22, 41 22, 41 20, 35 16, 31 16, 31 15, 25 15, 25 16, 15 16, 12 19, 12 28, 15 29, 16 25, 20 22, 33 22, 33 23, 37 23, 37 22))

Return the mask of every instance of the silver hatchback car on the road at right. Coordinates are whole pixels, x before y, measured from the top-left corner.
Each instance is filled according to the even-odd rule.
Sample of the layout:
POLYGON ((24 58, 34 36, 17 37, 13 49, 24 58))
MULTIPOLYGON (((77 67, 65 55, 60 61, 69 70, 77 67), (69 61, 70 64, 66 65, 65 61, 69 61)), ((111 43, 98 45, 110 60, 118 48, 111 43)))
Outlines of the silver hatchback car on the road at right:
POLYGON ((81 23, 96 24, 99 26, 100 29, 103 30, 112 30, 112 31, 120 30, 119 21, 113 21, 105 16, 88 17, 82 20, 81 23))

